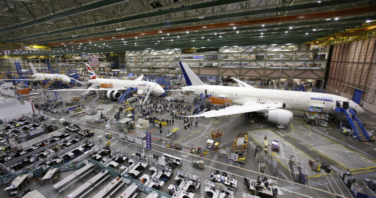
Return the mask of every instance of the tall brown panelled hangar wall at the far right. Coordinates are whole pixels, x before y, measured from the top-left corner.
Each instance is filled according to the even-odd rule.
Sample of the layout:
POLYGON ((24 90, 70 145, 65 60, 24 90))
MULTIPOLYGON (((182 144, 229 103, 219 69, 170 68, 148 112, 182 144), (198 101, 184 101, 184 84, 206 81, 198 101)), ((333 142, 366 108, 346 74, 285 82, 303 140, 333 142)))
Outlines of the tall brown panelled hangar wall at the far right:
POLYGON ((376 38, 333 46, 327 90, 353 99, 361 95, 363 108, 376 112, 376 38))

